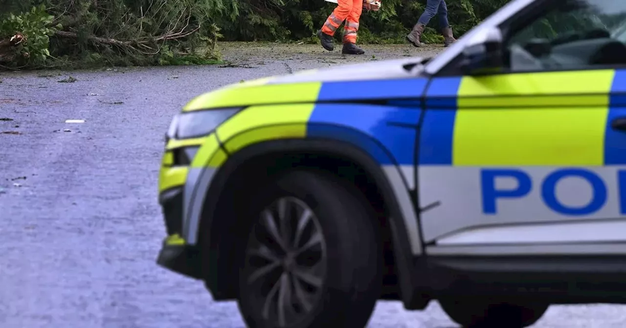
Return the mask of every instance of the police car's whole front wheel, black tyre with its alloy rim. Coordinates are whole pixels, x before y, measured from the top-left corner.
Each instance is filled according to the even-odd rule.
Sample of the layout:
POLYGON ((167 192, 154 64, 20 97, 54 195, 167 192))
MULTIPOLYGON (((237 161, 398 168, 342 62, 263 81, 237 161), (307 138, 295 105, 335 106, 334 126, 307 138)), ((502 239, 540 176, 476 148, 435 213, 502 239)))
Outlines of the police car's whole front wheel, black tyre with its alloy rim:
POLYGON ((382 247, 361 193, 321 172, 290 171, 253 199, 239 272, 247 325, 365 327, 381 294, 382 247))

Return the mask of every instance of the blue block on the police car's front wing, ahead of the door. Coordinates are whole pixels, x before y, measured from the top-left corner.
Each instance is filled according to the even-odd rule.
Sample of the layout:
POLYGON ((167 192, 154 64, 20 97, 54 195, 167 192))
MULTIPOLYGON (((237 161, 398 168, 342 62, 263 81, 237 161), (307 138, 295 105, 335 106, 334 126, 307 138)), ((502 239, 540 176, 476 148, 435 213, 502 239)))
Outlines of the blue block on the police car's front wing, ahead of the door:
POLYGON ((361 147, 379 164, 414 163, 416 129, 421 106, 419 96, 427 79, 327 82, 322 85, 309 117, 307 137, 349 142, 361 147), (394 106, 374 104, 324 104, 339 99, 398 99, 394 106), (404 100, 406 99, 406 100, 404 100), (401 102, 404 100, 404 103, 401 102))

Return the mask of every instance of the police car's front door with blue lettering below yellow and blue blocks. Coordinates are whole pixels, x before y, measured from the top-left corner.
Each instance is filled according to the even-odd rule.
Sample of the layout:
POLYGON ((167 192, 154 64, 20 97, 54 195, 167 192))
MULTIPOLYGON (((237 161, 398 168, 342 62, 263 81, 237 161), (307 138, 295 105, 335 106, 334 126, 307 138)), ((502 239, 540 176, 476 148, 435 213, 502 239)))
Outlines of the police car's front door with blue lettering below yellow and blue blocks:
POLYGON ((603 17, 610 32, 626 2, 605 2, 536 8, 518 19, 529 23, 507 27, 503 71, 432 79, 418 163, 429 252, 576 253, 626 242, 626 46, 578 24, 603 17))

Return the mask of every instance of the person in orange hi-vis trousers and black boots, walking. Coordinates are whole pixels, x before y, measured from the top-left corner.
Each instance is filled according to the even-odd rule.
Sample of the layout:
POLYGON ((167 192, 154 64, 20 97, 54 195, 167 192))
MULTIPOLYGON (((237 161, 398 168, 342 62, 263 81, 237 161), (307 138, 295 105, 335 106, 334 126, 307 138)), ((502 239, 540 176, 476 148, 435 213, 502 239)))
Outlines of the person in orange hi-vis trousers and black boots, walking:
POLYGON ((356 32, 359 30, 359 18, 363 10, 363 0, 338 0, 337 6, 328 16, 322 29, 317 31, 322 47, 327 51, 332 51, 335 46, 332 37, 342 22, 344 25, 344 47, 341 50, 343 54, 364 54, 365 51, 356 46, 356 32))

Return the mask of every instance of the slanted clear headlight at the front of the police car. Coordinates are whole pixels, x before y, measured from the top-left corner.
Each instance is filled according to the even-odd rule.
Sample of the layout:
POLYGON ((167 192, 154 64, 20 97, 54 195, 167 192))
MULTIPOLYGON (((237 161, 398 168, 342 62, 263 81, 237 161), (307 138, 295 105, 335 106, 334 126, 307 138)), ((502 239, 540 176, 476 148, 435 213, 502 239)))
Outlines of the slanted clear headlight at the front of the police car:
POLYGON ((182 112, 172 119, 167 137, 187 139, 206 136, 240 110, 241 108, 239 107, 182 112))

